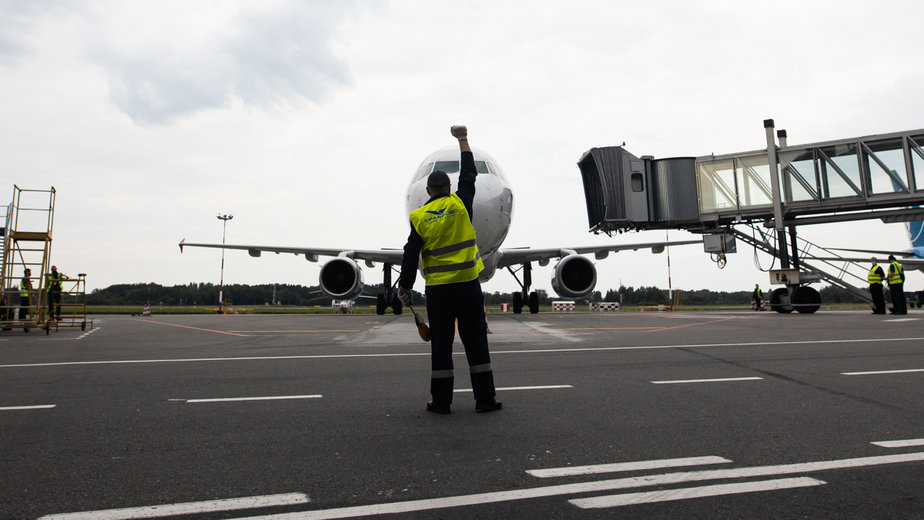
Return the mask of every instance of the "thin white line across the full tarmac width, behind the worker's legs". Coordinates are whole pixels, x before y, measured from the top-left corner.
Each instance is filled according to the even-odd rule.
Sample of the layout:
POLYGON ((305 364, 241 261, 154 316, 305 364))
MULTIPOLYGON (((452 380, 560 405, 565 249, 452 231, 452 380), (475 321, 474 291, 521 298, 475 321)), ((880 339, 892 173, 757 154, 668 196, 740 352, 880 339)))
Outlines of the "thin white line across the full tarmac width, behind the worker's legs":
MULTIPOLYGON (((144 320, 138 320, 144 321, 144 320)), ((151 322, 149 322, 151 323, 151 322)), ((888 342, 920 342, 924 338, 869 338, 869 339, 830 339, 814 341, 766 341, 755 343, 701 343, 701 344, 679 344, 679 345, 639 345, 629 347, 577 347, 577 348, 545 348, 529 350, 497 350, 491 351, 491 355, 501 354, 555 354, 571 352, 615 352, 622 350, 664 350, 680 348, 728 348, 728 347, 772 347, 778 345, 840 345, 844 343, 888 343, 888 342)), ((464 356, 463 352, 453 352, 454 356, 464 356)), ((143 364, 143 363, 198 363, 198 362, 215 362, 215 361, 288 361, 294 359, 351 359, 351 358, 388 358, 388 357, 430 357, 429 352, 402 352, 402 353, 375 353, 375 354, 317 354, 303 356, 252 356, 252 357, 218 357, 218 358, 167 358, 167 359, 125 359, 125 360, 104 360, 104 361, 62 361, 55 363, 22 363, 12 365, 0 365, 0 368, 36 368, 36 367, 56 367, 56 366, 80 366, 80 365, 121 365, 121 364, 143 364)), ((913 370, 921 372, 924 369, 913 370)), ((891 373, 891 372, 889 372, 891 373)), ((850 374, 850 373, 848 373, 850 374)), ((857 372, 856 374, 865 374, 857 372)))

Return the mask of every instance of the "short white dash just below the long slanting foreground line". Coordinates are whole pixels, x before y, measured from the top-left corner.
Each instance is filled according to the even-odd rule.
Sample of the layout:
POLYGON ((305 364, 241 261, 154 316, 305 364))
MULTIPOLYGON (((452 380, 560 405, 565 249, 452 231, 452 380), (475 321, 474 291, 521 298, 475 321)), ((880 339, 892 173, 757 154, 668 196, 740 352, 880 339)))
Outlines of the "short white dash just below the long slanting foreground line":
POLYGON ((689 500, 691 498, 754 493, 756 491, 776 491, 779 489, 820 486, 825 483, 826 482, 823 480, 810 477, 782 478, 777 480, 742 482, 740 484, 717 484, 714 486, 650 491, 648 493, 626 493, 624 495, 610 495, 605 497, 578 498, 569 500, 568 502, 581 509, 603 509, 636 504, 650 504, 654 502, 669 502, 672 500, 689 500))

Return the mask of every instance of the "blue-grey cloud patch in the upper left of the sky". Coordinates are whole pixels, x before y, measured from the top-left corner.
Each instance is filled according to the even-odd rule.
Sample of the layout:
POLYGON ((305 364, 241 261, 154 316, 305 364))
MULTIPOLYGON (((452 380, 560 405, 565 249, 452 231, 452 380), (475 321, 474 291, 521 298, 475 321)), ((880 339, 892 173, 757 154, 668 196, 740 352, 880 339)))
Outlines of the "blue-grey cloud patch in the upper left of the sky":
POLYGON ((239 99, 267 107, 298 99, 322 101, 351 81, 332 47, 350 3, 295 2, 273 12, 241 14, 222 27, 214 47, 158 41, 121 48, 98 42, 92 53, 106 71, 113 103, 134 121, 168 124, 239 99))

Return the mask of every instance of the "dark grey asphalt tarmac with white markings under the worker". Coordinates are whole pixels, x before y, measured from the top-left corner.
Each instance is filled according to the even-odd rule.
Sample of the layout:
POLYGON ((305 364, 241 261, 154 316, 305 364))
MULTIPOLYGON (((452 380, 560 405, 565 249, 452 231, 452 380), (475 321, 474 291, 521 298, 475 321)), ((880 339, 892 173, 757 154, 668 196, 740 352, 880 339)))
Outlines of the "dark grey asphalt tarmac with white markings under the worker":
POLYGON ((413 317, 0 333, 0 518, 924 518, 924 313, 490 315, 498 412, 413 317))

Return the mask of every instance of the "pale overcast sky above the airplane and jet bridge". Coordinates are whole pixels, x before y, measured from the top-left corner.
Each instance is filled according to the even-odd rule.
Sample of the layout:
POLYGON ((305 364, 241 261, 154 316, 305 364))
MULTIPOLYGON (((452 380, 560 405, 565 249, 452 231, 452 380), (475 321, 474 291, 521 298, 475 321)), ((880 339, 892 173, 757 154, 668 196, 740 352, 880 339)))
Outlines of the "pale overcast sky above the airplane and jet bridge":
MULTIPOLYGON (((217 283, 220 253, 177 243, 220 242, 220 213, 228 243, 401 247, 407 183, 466 124, 514 187, 505 246, 662 240, 588 232, 582 153, 756 150, 767 118, 790 144, 922 128, 922 15, 910 0, 0 0, 0 200, 54 186, 52 262, 89 289, 217 283)), ((879 221, 800 235, 909 245, 879 221)), ((224 277, 316 285, 318 265, 232 251, 224 277)), ((674 288, 768 280, 743 244, 724 270, 701 246, 670 265, 674 288)), ((603 291, 668 284, 666 255, 597 268, 603 291)), ((485 286, 515 288, 500 271, 485 286)))

